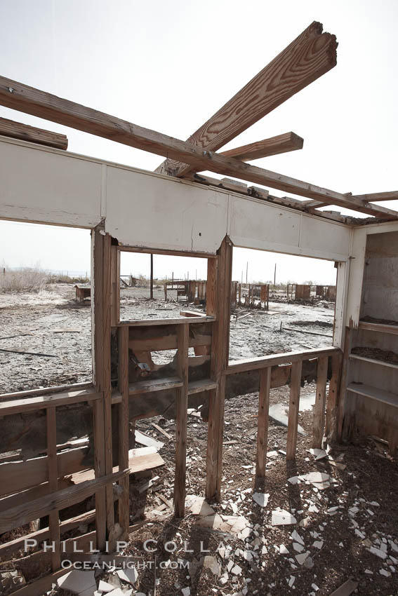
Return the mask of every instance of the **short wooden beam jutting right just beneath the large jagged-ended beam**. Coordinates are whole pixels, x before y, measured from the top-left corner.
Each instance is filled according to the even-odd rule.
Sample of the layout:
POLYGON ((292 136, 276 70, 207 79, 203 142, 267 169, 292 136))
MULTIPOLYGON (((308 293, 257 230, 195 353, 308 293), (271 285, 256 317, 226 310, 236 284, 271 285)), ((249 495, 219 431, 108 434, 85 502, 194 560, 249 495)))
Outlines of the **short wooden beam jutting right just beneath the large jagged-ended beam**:
POLYGON ((220 155, 234 157, 241 161, 251 161, 252 159, 260 159, 270 155, 287 153, 288 151, 297 151, 297 149, 303 149, 303 144, 304 139, 295 133, 285 133, 284 135, 277 135, 277 137, 270 137, 270 139, 229 149, 228 151, 220 151, 220 155))

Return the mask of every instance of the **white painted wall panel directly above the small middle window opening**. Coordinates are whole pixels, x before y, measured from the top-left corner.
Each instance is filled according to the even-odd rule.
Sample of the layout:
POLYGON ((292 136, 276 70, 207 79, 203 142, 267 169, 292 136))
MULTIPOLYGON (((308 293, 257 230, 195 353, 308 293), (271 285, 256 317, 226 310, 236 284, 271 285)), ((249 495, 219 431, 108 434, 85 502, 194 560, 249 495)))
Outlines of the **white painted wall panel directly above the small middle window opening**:
POLYGON ((215 254, 227 210, 226 193, 107 167, 105 229, 125 245, 215 254))

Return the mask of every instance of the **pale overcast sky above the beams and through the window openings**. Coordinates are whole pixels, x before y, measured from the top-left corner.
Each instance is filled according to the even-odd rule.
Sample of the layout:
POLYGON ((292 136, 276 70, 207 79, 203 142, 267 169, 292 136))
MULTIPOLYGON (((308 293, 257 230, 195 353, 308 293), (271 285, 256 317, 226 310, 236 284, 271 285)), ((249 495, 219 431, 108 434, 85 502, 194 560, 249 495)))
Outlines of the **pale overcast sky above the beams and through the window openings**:
MULTIPOLYGON (((256 165, 340 192, 396 190, 396 0, 1 0, 0 74, 185 140, 313 20, 336 34, 338 65, 225 148, 293 130, 303 150, 256 165)), ((0 116, 65 133, 77 153, 147 170, 162 161, 4 107, 0 116)), ((234 252, 235 279, 247 261, 249 281, 271 279, 275 262, 279 280, 335 275, 333 263, 234 252)), ((155 257, 155 276, 205 276, 197 259, 167 258, 155 257)), ((84 272, 89 233, 0 222, 0 262, 84 272)), ((147 273, 149 257, 124 263, 147 273)))

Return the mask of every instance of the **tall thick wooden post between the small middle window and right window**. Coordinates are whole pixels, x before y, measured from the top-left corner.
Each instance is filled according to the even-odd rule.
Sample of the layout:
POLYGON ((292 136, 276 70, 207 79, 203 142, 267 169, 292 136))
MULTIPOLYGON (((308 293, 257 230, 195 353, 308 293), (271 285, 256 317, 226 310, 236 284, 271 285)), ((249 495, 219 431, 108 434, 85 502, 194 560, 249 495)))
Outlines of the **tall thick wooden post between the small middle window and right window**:
POLYGON ((223 429, 225 402, 225 374, 229 358, 230 311, 232 279, 232 243, 227 236, 218 251, 218 259, 208 259, 208 309, 216 316, 211 339, 211 379, 217 389, 209 394, 208 440, 206 455, 206 497, 220 499, 223 469, 223 429), (211 294, 210 286, 215 292, 211 294))

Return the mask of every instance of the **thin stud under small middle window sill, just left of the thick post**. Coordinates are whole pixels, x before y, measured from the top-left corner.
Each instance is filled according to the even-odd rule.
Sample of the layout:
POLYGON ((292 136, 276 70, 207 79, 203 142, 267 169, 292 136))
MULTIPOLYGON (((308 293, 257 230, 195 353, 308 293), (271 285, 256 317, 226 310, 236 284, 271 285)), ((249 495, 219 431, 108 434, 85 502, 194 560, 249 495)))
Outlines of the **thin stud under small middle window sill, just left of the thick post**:
POLYGON ((188 408, 188 346, 190 325, 177 326, 178 376, 183 379, 183 386, 177 389, 175 403, 175 477, 174 477, 174 513, 175 517, 184 517, 185 513, 185 475, 187 460, 187 408, 188 408))

